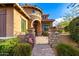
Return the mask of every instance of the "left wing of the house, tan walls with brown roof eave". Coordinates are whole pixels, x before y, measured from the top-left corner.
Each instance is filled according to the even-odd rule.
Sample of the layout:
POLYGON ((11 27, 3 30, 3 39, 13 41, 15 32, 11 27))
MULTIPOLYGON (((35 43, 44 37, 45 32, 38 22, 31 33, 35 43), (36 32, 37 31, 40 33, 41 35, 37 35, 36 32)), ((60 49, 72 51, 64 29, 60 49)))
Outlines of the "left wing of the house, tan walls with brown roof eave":
POLYGON ((25 34, 28 20, 30 17, 18 4, 0 4, 0 37, 25 34))

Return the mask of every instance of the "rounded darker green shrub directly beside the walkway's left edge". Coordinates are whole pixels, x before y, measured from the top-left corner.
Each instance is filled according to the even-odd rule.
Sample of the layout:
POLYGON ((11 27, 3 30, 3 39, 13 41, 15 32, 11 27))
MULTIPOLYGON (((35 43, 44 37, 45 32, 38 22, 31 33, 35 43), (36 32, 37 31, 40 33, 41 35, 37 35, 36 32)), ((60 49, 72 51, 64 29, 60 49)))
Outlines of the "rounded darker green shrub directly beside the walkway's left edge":
POLYGON ((13 55, 15 56, 30 56, 32 47, 29 43, 19 43, 13 49, 13 55))

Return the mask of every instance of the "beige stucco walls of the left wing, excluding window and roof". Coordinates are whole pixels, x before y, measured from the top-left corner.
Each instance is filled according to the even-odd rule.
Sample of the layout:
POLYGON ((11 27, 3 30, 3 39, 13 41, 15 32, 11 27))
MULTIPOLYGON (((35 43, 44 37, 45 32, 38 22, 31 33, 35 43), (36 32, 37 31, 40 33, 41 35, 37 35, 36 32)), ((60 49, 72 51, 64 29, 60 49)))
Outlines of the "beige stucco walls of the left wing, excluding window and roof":
POLYGON ((0 7, 0 14, 5 14, 5 16, 0 15, 0 36, 12 37, 25 34, 21 32, 21 18, 26 21, 26 30, 28 30, 28 19, 14 7, 0 7))

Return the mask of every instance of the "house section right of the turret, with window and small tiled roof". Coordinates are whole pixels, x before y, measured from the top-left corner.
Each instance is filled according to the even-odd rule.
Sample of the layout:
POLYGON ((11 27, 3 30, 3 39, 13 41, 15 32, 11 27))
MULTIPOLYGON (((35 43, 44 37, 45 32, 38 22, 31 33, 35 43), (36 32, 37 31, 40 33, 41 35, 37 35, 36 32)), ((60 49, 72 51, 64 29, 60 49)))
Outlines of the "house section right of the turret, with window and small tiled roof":
POLYGON ((48 17, 48 14, 42 15, 42 32, 48 32, 49 28, 52 27, 54 19, 49 19, 48 17))

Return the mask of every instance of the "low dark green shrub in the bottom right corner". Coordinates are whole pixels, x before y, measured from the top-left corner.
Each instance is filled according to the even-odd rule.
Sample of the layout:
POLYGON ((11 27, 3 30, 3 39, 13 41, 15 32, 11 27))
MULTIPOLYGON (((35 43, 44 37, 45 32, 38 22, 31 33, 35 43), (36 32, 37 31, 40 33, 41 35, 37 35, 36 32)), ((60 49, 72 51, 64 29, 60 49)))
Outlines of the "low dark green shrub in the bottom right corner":
POLYGON ((59 56, 79 56, 77 49, 66 44, 58 44, 56 50, 59 56))

